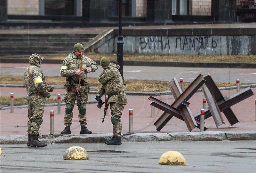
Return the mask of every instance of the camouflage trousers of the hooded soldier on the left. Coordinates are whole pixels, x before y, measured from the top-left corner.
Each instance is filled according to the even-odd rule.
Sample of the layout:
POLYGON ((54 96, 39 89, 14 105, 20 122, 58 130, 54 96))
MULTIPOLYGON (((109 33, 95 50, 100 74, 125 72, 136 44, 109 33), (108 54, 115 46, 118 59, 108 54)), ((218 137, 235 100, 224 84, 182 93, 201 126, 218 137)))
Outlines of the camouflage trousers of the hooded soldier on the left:
POLYGON ((39 135, 39 127, 43 123, 44 106, 28 105, 28 131, 29 135, 39 135))

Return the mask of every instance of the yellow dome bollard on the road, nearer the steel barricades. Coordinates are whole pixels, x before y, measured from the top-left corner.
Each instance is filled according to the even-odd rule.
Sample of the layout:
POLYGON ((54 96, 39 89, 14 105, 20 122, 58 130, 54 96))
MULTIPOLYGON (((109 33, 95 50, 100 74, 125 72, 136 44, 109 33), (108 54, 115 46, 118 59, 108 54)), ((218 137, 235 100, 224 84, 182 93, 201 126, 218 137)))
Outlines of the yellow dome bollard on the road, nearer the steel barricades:
POLYGON ((167 151, 159 159, 160 165, 186 165, 186 160, 177 151, 167 151))

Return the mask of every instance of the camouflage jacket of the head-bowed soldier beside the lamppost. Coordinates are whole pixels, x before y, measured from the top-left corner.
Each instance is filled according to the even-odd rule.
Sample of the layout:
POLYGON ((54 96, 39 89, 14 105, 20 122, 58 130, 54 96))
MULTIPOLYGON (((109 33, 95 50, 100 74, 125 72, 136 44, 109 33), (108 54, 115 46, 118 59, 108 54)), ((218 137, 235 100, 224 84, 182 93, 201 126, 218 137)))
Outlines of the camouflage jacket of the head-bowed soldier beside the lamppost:
POLYGON ((116 102, 121 105, 127 104, 126 94, 124 93, 124 83, 119 72, 119 66, 113 63, 108 64, 108 67, 99 75, 98 81, 101 83, 97 91, 97 96, 102 96, 104 93, 113 95, 109 98, 108 103, 116 102))

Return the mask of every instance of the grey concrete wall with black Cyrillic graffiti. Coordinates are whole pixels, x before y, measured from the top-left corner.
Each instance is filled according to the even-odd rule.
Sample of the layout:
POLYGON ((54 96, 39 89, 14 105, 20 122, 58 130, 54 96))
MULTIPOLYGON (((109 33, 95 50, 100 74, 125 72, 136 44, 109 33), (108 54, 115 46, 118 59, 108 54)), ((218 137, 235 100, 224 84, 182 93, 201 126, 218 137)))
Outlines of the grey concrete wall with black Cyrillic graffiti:
MULTIPOLYGON (((94 45, 94 51, 117 52, 117 37, 94 45)), ((256 54, 256 35, 124 36, 124 52, 166 55, 256 54)))

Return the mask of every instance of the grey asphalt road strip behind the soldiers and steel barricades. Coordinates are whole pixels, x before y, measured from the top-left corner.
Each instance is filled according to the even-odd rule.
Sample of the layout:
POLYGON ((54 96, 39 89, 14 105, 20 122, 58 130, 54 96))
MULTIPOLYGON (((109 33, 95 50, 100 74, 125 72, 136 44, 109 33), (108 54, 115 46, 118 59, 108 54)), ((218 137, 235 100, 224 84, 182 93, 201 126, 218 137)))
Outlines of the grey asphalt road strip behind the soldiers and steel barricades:
MULTIPOLYGON (((1 75, 24 75, 29 64, 1 63, 1 75)), ((45 76, 60 76, 61 64, 42 64, 45 76)), ((102 72, 99 66, 88 77, 97 78, 102 72)), ((199 74, 212 76, 214 82, 256 83, 256 69, 252 68, 198 68, 198 67, 147 67, 124 66, 124 79, 163 80, 170 81, 172 77, 177 80, 183 78, 184 82, 192 82, 199 74)))

